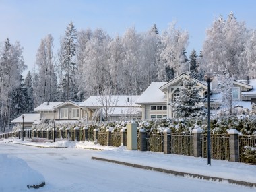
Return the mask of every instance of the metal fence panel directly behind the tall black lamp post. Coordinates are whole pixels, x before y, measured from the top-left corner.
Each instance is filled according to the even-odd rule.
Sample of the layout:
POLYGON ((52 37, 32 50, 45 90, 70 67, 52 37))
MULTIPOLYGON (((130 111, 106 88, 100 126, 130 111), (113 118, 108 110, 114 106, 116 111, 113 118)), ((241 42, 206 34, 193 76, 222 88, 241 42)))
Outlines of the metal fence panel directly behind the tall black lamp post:
MULTIPOLYGON (((207 135, 201 135, 201 157, 207 158, 207 135)), ((211 158, 230 160, 228 135, 211 135, 211 158)))

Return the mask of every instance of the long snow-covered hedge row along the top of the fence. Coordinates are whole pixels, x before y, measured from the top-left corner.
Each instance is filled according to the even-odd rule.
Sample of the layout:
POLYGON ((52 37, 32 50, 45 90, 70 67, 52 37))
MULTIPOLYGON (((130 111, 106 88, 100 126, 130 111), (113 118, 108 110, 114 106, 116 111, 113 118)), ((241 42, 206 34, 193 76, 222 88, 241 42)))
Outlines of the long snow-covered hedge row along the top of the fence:
MULTIPOLYGON (((76 123, 59 123, 55 126, 55 130, 59 129, 83 129, 86 127, 88 131, 100 129, 101 132, 110 129, 112 132, 120 132, 121 129, 126 129, 127 123, 131 121, 110 121, 103 123, 80 121, 76 123)), ((138 129, 145 129, 146 132, 162 133, 164 129, 169 128, 172 133, 191 133, 195 127, 201 127, 207 131, 207 117, 187 118, 187 119, 157 119, 146 121, 135 121, 138 129)), ((214 117, 210 121, 211 131, 214 134, 226 134, 228 129, 236 129, 242 135, 256 135, 256 115, 238 115, 226 117, 214 117)), ((40 124, 32 129, 47 130, 53 129, 53 123, 40 124)))

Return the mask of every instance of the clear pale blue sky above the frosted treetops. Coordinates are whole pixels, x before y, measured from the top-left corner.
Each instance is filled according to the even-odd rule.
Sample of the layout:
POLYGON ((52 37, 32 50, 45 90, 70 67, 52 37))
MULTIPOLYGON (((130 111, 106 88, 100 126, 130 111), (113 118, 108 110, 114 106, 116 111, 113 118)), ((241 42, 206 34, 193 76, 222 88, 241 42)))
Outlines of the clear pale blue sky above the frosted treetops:
POLYGON ((256 29, 255 7, 254 0, 0 0, 0 42, 19 41, 32 70, 40 40, 51 34, 56 51, 70 20, 77 30, 102 28, 113 37, 133 26, 145 32, 153 24, 162 33, 176 20, 179 28, 189 32, 189 56, 192 49, 199 53, 206 29, 219 15, 226 19, 233 11, 239 21, 256 29))

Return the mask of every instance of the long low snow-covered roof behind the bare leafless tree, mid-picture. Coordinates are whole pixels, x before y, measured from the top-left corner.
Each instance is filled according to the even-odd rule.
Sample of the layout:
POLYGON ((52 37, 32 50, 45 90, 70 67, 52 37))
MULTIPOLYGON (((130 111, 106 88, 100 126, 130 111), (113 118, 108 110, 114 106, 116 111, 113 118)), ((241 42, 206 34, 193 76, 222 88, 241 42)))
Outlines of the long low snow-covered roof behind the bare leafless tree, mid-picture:
MULTIPOLYGON (((126 96, 113 95, 113 96, 106 96, 106 97, 112 101, 117 100, 116 106, 137 106, 135 102, 139 98, 139 96, 127 96, 127 95, 126 96), (128 102, 128 98, 129 98, 129 102, 128 102)), ((87 100, 82 102, 80 106, 84 106, 84 107, 102 106, 99 100, 101 100, 101 96, 90 96, 87 100)), ((104 99, 102 99, 102 101, 105 102, 104 99)), ((110 102, 110 103, 113 103, 113 102, 110 102)))

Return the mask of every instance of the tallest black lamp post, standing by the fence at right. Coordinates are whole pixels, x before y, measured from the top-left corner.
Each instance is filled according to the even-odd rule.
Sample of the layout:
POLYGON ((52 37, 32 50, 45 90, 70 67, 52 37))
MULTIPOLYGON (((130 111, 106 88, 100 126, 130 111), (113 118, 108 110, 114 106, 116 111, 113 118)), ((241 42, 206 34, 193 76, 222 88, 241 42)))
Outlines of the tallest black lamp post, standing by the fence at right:
POLYGON ((208 127, 207 127, 207 158, 208 163, 211 165, 211 130, 210 130, 210 82, 214 79, 214 74, 207 72, 204 75, 204 79, 207 82, 207 111, 208 111, 208 127))

